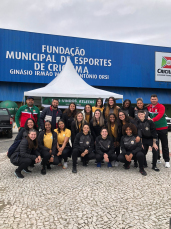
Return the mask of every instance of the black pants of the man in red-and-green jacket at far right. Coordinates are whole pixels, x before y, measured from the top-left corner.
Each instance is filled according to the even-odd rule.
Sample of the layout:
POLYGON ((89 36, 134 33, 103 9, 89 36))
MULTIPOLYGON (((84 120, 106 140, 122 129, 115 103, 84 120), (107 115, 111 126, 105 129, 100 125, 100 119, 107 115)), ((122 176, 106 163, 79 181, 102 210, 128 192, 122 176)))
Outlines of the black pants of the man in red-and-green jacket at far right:
MULTIPOLYGON (((161 141, 163 159, 165 162, 169 162, 169 147, 168 147, 168 129, 156 130, 158 134, 158 139, 161 141)), ((158 141, 159 142, 159 141, 158 141)), ((160 159, 160 150, 158 153, 158 159, 160 159)))

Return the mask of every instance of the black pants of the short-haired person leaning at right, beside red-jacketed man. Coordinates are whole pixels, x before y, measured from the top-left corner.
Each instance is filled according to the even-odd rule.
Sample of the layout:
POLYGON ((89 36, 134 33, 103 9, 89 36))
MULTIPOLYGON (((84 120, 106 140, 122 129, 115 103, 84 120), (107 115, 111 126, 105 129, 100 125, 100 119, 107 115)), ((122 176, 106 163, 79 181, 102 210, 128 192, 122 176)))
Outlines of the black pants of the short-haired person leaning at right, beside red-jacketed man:
MULTIPOLYGON (((153 146, 153 139, 142 139, 142 144, 144 146, 143 149, 143 153, 144 153, 144 165, 147 165, 147 161, 146 161, 146 155, 148 153, 148 148, 149 146, 153 146)), ((158 158, 158 150, 155 150, 154 147, 152 147, 152 153, 153 153, 153 158, 152 158, 152 163, 153 163, 153 167, 156 167, 156 163, 157 163, 157 158, 158 158)))

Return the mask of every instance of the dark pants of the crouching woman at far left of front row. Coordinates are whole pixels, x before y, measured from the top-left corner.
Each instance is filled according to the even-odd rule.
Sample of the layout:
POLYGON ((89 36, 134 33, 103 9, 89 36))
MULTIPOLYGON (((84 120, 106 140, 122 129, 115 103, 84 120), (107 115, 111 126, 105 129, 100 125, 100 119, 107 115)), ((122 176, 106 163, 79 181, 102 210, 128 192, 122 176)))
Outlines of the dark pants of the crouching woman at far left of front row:
POLYGON ((35 160, 32 160, 32 159, 27 158, 27 157, 19 157, 17 162, 15 160, 11 160, 11 163, 13 165, 18 166, 18 168, 16 169, 17 172, 21 172, 23 169, 27 169, 28 166, 30 166, 34 162, 35 162, 35 160))

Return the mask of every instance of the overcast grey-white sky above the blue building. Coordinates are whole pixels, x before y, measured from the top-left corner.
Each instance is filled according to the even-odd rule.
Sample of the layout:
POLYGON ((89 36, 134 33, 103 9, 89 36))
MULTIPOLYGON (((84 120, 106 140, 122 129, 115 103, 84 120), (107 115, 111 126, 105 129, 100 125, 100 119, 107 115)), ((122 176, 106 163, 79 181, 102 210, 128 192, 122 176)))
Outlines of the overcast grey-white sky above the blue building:
POLYGON ((1 0, 0 28, 171 47, 171 0, 1 0))

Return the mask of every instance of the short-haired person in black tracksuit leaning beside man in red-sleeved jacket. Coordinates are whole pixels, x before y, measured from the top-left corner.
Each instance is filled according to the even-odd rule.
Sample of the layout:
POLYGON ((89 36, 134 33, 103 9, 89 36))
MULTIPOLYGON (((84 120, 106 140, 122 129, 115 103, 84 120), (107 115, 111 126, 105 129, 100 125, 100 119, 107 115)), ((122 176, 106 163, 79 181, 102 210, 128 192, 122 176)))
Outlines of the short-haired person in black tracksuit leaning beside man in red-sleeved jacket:
POLYGON ((156 132, 155 124, 152 120, 148 120, 145 118, 145 113, 142 110, 138 111, 138 118, 139 120, 137 121, 137 126, 138 126, 138 129, 141 130, 143 152, 145 154, 144 167, 147 167, 146 154, 148 152, 149 146, 151 146, 152 153, 153 153, 152 169, 158 172, 160 170, 156 166, 157 157, 158 157, 158 146, 156 144, 157 132, 156 132))

